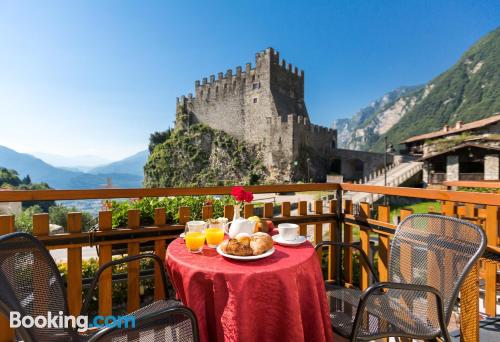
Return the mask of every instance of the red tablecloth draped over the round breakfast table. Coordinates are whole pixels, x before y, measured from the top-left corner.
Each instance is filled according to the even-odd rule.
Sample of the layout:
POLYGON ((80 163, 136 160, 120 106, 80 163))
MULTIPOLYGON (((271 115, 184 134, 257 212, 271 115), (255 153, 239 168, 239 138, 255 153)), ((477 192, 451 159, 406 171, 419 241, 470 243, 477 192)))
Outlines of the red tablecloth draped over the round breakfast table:
POLYGON ((312 245, 275 245, 256 261, 223 258, 205 246, 191 254, 170 243, 167 264, 182 302, 198 318, 202 341, 331 341, 328 304, 312 245))

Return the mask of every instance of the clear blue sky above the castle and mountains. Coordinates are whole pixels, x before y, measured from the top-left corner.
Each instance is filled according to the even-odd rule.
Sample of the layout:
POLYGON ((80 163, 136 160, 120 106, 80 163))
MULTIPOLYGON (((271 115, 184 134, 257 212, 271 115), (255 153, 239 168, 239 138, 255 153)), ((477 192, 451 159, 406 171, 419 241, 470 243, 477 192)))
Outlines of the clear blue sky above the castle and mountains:
POLYGON ((272 46, 330 126, 422 84, 500 23, 493 1, 0 0, 0 145, 116 160, 172 124, 194 81, 272 46))

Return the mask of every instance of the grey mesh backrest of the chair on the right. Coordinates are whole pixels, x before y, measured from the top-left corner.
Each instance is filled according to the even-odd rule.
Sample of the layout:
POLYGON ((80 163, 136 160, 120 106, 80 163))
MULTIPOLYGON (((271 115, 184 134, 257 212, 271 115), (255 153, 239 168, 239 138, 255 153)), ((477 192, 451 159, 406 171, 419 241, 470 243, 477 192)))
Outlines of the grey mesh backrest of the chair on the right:
POLYGON ((460 286, 485 248, 486 236, 475 224, 442 215, 410 215, 392 241, 389 281, 439 290, 448 322, 460 286))

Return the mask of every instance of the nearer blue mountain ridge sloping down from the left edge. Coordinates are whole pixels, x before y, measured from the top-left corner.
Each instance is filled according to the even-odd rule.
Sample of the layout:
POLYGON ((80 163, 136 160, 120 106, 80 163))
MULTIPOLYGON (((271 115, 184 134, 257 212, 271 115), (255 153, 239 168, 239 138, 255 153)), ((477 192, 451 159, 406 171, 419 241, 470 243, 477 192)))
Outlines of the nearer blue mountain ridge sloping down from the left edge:
POLYGON ((88 174, 54 167, 30 154, 19 153, 0 146, 0 166, 14 169, 24 177, 30 175, 33 182, 45 182, 55 189, 91 189, 107 184, 108 178, 116 187, 141 187, 142 177, 119 173, 88 174))

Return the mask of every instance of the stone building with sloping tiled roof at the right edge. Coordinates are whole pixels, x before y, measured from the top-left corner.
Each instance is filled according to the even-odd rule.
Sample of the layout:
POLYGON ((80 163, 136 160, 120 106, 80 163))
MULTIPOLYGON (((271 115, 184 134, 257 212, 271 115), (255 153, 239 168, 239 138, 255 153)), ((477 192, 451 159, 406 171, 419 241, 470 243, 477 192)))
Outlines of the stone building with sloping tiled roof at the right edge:
POLYGON ((403 144, 424 162, 423 181, 430 185, 455 180, 498 180, 500 114, 411 137, 403 144))

